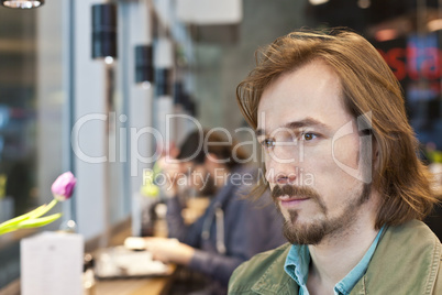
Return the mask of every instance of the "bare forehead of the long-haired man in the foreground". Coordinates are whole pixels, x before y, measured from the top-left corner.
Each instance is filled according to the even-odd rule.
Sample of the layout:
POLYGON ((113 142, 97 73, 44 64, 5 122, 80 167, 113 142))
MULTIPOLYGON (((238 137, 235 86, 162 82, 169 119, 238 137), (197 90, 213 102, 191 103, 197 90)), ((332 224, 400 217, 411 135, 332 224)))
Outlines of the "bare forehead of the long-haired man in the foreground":
POLYGON ((335 129, 351 117, 335 72, 322 62, 313 62, 266 87, 257 106, 255 133, 310 125, 335 129))

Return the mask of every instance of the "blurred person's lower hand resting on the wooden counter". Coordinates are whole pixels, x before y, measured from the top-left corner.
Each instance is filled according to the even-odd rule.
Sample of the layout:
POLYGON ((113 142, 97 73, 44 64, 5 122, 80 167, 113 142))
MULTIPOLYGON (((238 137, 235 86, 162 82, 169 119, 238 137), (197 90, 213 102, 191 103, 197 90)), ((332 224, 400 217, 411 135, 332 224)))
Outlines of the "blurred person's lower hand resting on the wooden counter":
POLYGON ((145 248, 153 255, 154 260, 164 263, 177 263, 188 265, 194 256, 195 249, 177 239, 167 238, 144 238, 145 248))

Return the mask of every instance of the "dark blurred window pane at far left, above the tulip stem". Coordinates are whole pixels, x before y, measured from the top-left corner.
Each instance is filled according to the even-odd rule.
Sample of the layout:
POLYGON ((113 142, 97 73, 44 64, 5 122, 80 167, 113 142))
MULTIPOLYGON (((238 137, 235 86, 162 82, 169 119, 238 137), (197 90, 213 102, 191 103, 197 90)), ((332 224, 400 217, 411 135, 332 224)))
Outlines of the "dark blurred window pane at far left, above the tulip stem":
POLYGON ((0 10, 0 221, 36 206, 35 13, 26 12, 0 10))

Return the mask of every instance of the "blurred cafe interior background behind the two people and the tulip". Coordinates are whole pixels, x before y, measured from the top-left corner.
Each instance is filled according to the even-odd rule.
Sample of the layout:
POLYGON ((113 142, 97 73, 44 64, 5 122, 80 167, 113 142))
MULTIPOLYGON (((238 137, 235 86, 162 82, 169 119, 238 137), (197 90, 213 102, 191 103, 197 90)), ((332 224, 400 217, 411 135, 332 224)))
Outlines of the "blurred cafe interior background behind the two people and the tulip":
MULTIPOLYGON (((347 26, 378 48, 404 88, 420 156, 442 185, 440 0, 0 4, 0 223, 49 204, 62 173, 70 171, 77 179, 70 199, 48 212, 60 218, 0 233, 0 295, 21 289, 38 295, 23 293, 36 280, 60 284, 54 282, 56 273, 30 271, 42 261, 48 269, 60 265, 63 251, 32 247, 38 242, 33 237, 51 243, 52 236, 40 234, 59 231, 80 237, 81 294, 172 294, 176 269, 101 280, 91 261, 97 265, 102 252, 115 260, 112 253, 128 237, 167 236, 161 193, 146 187, 158 153, 178 146, 198 124, 254 140, 235 87, 253 68, 259 46, 300 28, 347 26), (44 260, 29 259, 38 253, 44 260), (87 270, 92 270, 89 278, 87 270)), ((205 201, 189 204, 188 222, 203 212, 205 201)), ((441 239, 438 210, 427 221, 441 239)), ((76 242, 65 248, 76 251, 76 242)), ((70 262, 76 263, 64 263, 70 262)))

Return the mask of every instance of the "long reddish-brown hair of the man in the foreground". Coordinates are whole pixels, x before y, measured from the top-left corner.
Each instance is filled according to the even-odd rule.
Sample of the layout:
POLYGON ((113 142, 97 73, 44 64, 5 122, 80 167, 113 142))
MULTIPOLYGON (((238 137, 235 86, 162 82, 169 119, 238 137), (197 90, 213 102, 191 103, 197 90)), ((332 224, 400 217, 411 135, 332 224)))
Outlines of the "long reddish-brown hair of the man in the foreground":
MULTIPOLYGON (((256 129, 261 96, 280 75, 321 59, 340 77, 347 111, 372 112, 377 145, 373 187, 382 204, 376 228, 423 219, 438 201, 430 175, 418 159, 418 141, 408 123, 401 87, 379 53, 347 30, 298 31, 277 39, 256 53, 256 67, 237 86, 236 99, 246 121, 256 129)), ((266 186, 262 182, 261 188, 266 186)), ((257 189, 263 190, 263 189, 257 189)))

